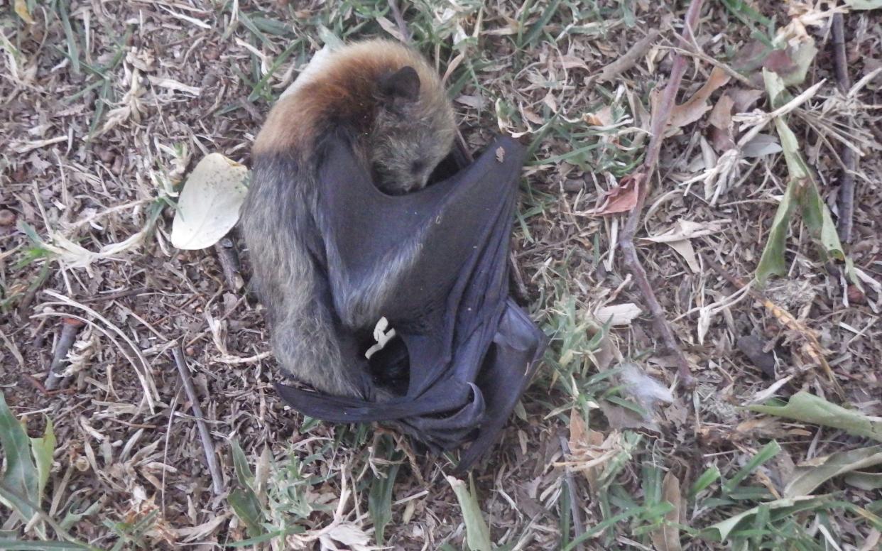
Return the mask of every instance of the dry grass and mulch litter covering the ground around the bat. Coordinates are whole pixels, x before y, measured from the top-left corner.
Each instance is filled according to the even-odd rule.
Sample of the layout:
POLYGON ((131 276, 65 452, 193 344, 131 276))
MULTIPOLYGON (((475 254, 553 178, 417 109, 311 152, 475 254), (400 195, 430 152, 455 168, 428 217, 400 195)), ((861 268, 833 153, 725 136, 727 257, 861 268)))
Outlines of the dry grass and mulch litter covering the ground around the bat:
MULTIPOLYGON (((215 251, 179 251, 168 237, 176 190, 195 163, 220 152, 247 165, 263 115, 312 52, 329 34, 396 32, 388 5, 14 4, 28 6, 34 23, 11 10, 0 23, 0 386, 29 434, 54 421, 57 449, 41 509, 72 538, 102 549, 225 548, 266 532, 273 542, 254 545, 336 541, 359 549, 374 545, 386 511, 392 548, 464 548, 464 509, 445 480, 449 458, 422 457, 381 428, 333 426, 287 410, 271 384, 275 366, 258 306, 228 286, 215 251), (47 393, 41 381, 64 318, 86 326, 69 356, 70 385, 47 393), (172 358, 177 346, 220 461, 220 495, 172 358), (390 490, 383 480, 392 472, 390 490), (252 497, 259 514, 249 522, 243 511, 252 497)), ((740 540, 699 536, 784 495, 804 460, 872 443, 740 406, 804 390, 882 416, 878 288, 864 283, 862 291, 841 263, 823 262, 794 221, 786 275, 763 291, 798 322, 781 324, 751 296, 738 300, 701 257, 752 278, 789 177, 781 153, 737 163, 719 191, 714 175, 706 196, 702 173, 721 153, 708 149, 711 114, 699 113, 663 144, 640 236, 681 220, 700 224, 706 231, 693 227, 686 240, 698 266, 662 242, 638 248, 693 367, 694 391, 675 391, 668 403, 664 386, 674 383, 675 368, 647 316, 624 316, 611 328, 594 316, 603 306, 642 303, 615 246, 622 220, 594 207, 642 161, 654 90, 664 86, 675 50, 691 59, 680 103, 716 65, 735 78, 710 92, 708 108, 736 87, 762 91, 737 52, 758 36, 774 37, 772 18, 784 26, 793 13, 811 14, 809 6, 791 3, 789 14, 777 3, 708 3, 697 54, 676 41, 683 12, 643 0, 406 4, 417 47, 446 74, 467 144, 479 149, 504 131, 530 148, 512 241, 514 287, 552 346, 502 442, 473 473, 494 545, 566 547, 574 534, 593 531, 573 548, 677 548, 673 531, 691 549, 878 548, 882 495, 841 477, 812 491, 829 497, 804 510, 775 517, 774 506, 761 508, 740 540), (647 29, 658 37, 627 55, 647 29), (623 58, 613 66, 619 74, 606 78, 623 58), (841 396, 818 369, 818 350, 806 347, 808 331, 841 396)), ((882 80, 843 100, 829 19, 819 22, 808 31, 819 52, 791 92, 826 82, 789 125, 830 205, 842 142, 863 153, 846 249, 857 268, 882 280, 882 80)), ((882 66, 880 36, 878 11, 846 16, 853 81, 882 66)), ((756 99, 750 109, 772 111, 765 92, 756 99)), ((764 132, 774 135, 771 126, 764 132)), ((247 259, 243 251, 246 279, 247 259)), ((875 468, 863 470, 878 483, 875 468)), ((0 539, 37 537, 34 523, 26 530, 0 510, 0 539)), ((467 503, 465 510, 473 519, 467 503)), ((469 530, 475 537, 475 526, 469 530)))

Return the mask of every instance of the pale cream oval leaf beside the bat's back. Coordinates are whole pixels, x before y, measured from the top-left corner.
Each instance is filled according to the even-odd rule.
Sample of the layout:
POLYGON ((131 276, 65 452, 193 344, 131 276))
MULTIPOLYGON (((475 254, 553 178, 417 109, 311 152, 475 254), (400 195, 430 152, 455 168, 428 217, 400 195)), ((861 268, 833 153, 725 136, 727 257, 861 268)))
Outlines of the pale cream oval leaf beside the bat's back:
POLYGON ((205 249, 221 240, 239 220, 248 168, 221 153, 200 160, 183 185, 171 227, 178 249, 205 249))

